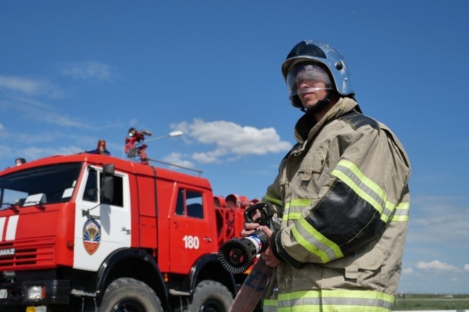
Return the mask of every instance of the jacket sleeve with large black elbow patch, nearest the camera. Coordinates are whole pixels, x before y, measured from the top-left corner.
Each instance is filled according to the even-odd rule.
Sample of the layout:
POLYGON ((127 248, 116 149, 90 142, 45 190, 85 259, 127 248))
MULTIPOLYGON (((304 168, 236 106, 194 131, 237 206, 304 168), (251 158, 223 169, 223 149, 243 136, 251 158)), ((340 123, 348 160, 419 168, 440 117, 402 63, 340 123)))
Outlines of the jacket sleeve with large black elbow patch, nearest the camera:
MULTIPOLYGON (((353 253, 380 235, 403 199, 410 165, 387 128, 363 127, 331 168, 319 197, 292 225, 275 232, 271 247, 296 268, 353 253)), ((407 203, 408 204, 408 203, 407 203)))

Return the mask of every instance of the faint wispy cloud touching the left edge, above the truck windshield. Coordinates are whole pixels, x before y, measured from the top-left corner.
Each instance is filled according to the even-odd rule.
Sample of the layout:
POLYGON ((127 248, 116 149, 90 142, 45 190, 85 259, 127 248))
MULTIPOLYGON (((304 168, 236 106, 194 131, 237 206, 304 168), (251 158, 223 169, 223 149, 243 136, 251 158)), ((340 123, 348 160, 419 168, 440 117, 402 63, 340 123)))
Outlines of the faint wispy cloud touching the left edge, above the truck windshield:
POLYGON ((54 97, 62 95, 62 91, 60 91, 53 83, 50 83, 47 80, 32 79, 28 77, 0 75, 0 88, 27 95, 47 94, 54 97))

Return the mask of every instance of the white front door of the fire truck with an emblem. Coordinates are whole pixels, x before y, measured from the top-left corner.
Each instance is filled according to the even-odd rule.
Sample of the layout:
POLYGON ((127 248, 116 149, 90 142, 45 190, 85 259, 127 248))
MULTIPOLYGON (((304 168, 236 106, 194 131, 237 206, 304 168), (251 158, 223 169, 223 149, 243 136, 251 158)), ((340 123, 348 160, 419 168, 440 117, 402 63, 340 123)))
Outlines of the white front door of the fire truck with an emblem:
POLYGON ((73 267, 96 271, 114 250, 130 247, 128 175, 115 172, 114 197, 100 203, 102 168, 88 166, 77 193, 73 267))

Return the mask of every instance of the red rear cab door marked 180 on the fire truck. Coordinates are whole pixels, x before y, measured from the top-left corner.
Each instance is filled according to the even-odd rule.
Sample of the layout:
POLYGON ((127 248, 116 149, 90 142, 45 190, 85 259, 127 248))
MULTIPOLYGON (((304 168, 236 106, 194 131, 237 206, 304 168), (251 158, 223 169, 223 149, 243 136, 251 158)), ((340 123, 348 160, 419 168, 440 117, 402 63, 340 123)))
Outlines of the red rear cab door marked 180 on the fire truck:
POLYGON ((215 225, 209 224, 206 193, 178 186, 170 216, 170 267, 173 273, 187 274, 205 253, 214 252, 215 225))

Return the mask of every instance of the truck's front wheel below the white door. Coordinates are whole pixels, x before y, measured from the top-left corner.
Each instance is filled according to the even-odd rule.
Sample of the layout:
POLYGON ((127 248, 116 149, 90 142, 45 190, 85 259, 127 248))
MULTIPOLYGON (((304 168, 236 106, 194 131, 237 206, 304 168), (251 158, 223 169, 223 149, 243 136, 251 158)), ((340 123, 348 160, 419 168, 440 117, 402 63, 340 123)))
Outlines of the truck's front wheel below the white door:
POLYGON ((107 287, 99 312, 163 312, 160 299, 145 283, 123 277, 107 287))

